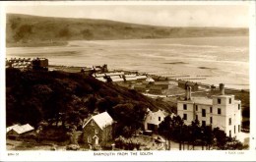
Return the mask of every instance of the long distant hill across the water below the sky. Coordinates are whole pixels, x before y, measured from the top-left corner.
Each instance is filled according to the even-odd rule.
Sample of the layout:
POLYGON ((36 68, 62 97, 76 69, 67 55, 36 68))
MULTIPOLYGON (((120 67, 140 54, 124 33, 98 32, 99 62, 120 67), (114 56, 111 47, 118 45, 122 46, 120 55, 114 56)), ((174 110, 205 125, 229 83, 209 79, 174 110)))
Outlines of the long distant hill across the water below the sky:
MULTIPOLYGON (((153 18, 154 19, 154 18, 153 18)), ((7 46, 65 44, 68 40, 112 40, 248 35, 248 28, 155 27, 106 20, 7 14, 7 46)))

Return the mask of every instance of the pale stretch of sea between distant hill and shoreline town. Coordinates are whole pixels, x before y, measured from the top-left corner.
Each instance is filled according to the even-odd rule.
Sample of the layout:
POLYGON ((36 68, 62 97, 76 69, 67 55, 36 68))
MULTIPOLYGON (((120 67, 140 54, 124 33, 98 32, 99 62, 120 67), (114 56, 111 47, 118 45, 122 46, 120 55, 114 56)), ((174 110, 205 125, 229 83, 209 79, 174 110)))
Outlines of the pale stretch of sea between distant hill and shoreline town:
POLYGON ((63 66, 107 64, 112 70, 249 89, 248 36, 74 40, 66 46, 9 47, 6 57, 43 57, 63 66))

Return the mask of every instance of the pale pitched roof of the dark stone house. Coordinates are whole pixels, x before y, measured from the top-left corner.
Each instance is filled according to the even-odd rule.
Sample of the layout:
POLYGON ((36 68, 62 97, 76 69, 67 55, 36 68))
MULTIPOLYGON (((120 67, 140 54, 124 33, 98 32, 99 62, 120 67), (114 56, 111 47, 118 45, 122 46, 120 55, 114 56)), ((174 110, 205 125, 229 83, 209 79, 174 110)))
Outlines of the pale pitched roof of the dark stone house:
POLYGON ((106 126, 112 125, 114 123, 113 119, 110 117, 110 115, 107 112, 97 114, 96 116, 93 116, 85 125, 83 125, 83 128, 87 126, 87 124, 94 120, 96 122, 96 125, 103 130, 106 126))

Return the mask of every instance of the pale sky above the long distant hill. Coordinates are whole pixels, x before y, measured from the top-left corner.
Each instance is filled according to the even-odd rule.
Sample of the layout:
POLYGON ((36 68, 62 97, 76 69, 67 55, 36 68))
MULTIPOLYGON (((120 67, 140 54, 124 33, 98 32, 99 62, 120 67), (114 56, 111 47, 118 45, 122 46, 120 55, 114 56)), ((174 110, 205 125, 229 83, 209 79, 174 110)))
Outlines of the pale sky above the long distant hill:
POLYGON ((179 4, 81 4, 20 3, 6 7, 7 13, 47 17, 105 19, 166 27, 249 27, 248 3, 228 5, 179 4))

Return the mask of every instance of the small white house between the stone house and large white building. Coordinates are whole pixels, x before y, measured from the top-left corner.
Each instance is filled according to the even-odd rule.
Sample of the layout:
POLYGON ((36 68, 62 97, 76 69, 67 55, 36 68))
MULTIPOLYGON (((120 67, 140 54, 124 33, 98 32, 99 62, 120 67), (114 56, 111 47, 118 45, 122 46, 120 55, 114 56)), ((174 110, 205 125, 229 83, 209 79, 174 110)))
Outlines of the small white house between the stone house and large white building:
POLYGON ((165 113, 164 111, 159 110, 157 112, 152 112, 150 109, 148 109, 148 114, 144 120, 145 131, 157 131, 160 123, 164 120, 166 116, 167 113, 165 113))

